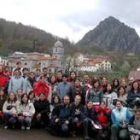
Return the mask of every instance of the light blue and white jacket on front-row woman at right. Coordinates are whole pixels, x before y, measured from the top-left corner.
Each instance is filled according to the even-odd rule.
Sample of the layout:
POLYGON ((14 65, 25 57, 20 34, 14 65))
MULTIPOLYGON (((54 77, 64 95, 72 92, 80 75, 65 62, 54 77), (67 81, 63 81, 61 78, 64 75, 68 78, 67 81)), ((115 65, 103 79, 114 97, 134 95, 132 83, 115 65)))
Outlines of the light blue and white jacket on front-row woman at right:
POLYGON ((131 113, 126 107, 122 107, 120 110, 117 108, 111 112, 111 120, 113 124, 122 127, 123 123, 128 124, 131 118, 131 113))

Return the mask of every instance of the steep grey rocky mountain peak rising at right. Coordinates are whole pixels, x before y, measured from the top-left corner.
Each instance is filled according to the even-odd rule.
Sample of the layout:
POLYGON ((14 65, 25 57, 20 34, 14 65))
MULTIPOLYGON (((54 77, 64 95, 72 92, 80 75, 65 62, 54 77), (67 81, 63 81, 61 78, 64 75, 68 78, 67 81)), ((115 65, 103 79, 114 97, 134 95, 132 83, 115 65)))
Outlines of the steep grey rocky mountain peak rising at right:
POLYGON ((77 46, 137 53, 140 52, 140 38, 133 28, 110 16, 86 33, 77 46))

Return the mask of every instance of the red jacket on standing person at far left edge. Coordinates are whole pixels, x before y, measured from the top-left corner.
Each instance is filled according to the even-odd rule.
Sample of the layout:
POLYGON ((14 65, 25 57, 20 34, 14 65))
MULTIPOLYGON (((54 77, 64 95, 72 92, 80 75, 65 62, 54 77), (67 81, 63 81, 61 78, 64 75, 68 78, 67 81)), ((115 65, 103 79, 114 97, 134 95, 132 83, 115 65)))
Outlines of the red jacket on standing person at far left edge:
POLYGON ((0 87, 5 87, 5 83, 9 80, 9 76, 7 76, 4 72, 0 72, 0 87))

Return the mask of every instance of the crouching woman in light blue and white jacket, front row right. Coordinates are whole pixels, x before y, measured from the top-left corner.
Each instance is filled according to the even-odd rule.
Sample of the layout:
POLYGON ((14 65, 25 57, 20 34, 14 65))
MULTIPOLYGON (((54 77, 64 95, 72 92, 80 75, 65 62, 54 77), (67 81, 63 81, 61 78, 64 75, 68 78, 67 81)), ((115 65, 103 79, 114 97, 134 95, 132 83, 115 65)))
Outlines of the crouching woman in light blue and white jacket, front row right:
POLYGON ((116 102, 116 108, 111 112, 112 126, 110 140, 128 139, 127 124, 130 118, 130 111, 126 107, 123 107, 122 102, 118 100, 116 102))

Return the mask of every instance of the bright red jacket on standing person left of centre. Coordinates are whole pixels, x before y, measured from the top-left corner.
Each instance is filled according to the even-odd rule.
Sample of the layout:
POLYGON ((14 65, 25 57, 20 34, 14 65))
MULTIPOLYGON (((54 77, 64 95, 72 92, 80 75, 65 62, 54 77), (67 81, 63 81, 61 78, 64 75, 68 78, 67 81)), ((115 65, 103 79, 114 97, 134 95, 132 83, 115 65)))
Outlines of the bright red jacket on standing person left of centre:
POLYGON ((49 95, 49 85, 47 82, 41 83, 40 80, 35 82, 33 86, 33 91, 35 93, 35 96, 39 96, 40 93, 44 93, 46 98, 48 98, 49 95))

